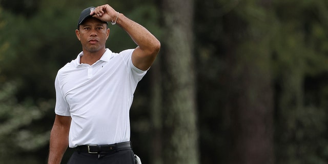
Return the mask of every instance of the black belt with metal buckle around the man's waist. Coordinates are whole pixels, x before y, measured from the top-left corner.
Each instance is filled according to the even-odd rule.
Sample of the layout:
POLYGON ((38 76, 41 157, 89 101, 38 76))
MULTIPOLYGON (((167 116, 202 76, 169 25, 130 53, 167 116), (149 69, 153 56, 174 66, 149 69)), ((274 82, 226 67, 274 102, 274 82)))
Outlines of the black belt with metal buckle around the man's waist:
POLYGON ((121 150, 131 150, 130 141, 120 142, 111 145, 81 145, 77 146, 75 150, 82 153, 100 153, 100 152, 118 152, 121 150))

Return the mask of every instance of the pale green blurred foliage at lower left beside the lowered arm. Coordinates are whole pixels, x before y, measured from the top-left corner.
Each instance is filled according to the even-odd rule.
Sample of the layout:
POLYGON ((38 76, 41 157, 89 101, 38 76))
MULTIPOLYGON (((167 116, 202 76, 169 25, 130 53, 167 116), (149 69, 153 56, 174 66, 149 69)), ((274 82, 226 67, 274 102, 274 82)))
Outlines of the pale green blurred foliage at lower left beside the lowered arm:
POLYGON ((6 163, 17 163, 17 154, 22 154, 24 163, 38 163, 31 158, 40 148, 48 145, 50 130, 37 125, 46 111, 54 104, 42 101, 37 106, 31 100, 18 103, 15 98, 17 84, 7 82, 0 88, 0 158, 6 163), (42 130, 43 129, 43 130, 42 130))

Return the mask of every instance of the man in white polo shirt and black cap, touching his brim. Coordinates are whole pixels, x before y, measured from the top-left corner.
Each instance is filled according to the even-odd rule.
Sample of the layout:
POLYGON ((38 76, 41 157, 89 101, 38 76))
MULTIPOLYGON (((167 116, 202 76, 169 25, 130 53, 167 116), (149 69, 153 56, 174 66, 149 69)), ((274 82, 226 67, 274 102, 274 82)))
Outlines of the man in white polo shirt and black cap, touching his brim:
POLYGON ((61 68, 55 79, 55 121, 49 164, 60 163, 69 146, 68 163, 134 163, 129 110, 137 83, 160 49, 144 27, 109 5, 83 10, 75 30, 83 51, 61 68), (105 48, 107 22, 124 29, 135 49, 113 53, 105 48))

